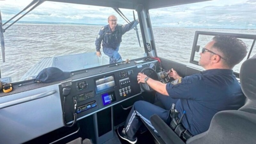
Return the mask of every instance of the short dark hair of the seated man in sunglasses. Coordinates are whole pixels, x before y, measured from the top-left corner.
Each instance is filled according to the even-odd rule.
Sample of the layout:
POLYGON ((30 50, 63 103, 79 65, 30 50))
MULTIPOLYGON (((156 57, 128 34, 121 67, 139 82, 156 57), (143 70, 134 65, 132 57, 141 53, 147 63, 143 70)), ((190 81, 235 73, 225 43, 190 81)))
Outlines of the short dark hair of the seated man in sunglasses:
POLYGON ((212 48, 217 49, 223 54, 226 64, 229 68, 233 68, 241 62, 247 54, 247 45, 233 36, 217 35, 212 38, 215 43, 212 48))

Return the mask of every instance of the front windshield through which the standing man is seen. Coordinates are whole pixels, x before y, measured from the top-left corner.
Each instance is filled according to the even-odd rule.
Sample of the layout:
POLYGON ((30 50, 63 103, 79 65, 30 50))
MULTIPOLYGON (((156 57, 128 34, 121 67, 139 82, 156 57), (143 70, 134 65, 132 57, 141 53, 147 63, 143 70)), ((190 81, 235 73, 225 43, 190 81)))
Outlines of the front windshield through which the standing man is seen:
MULTIPOLYGON (((1 1, 3 23, 30 2, 1 1)), ((2 80, 34 79, 47 67, 71 72, 144 57, 145 51, 139 45, 135 29, 126 25, 134 20, 133 11, 120 10, 128 20, 109 7, 45 1, 4 32, 5 62, 2 55, 0 60, 2 80), (116 18, 108 20, 111 15, 116 18), (117 24, 114 31, 105 26, 109 23, 114 25, 112 28, 117 24), (96 47, 101 52, 100 57, 96 47)), ((134 12, 137 19, 137 12, 134 12)), ((137 26, 142 44, 140 25, 137 26)))

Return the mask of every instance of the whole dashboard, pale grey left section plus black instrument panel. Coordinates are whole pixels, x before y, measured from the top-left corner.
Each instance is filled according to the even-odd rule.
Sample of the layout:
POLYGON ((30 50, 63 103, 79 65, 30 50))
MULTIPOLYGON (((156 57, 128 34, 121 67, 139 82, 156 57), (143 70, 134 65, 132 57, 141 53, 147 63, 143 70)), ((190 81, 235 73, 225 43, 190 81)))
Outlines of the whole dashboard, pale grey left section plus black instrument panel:
POLYGON ((0 97, 2 106, 10 105, 0 110, 1 143, 24 143, 45 134, 51 135, 54 130, 62 129, 63 122, 70 125, 74 118, 87 120, 88 125, 97 128, 97 137, 112 133, 112 126, 124 120, 119 115, 125 115, 126 111, 119 112, 122 108, 119 105, 129 107, 139 98, 137 96, 142 91, 137 75, 152 63, 159 66, 156 60, 140 64, 131 61, 114 67, 87 69, 85 73, 79 72, 62 82, 14 84, 12 92, 1 93, 0 97), (25 102, 20 103, 20 100, 25 102), (118 119, 114 119, 115 115, 118 119), (88 119, 83 119, 85 117, 88 119), (92 117, 98 123, 90 121, 92 117), (29 135, 20 134, 28 132, 29 135))

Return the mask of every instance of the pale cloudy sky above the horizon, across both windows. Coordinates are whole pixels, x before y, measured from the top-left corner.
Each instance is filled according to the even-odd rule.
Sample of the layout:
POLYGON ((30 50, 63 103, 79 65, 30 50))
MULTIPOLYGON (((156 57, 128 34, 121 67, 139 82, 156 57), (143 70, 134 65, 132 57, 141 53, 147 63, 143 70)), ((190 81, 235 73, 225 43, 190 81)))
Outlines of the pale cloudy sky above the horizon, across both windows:
MULTIPOLYGON (((0 0, 2 19, 8 20, 32 0, 0 0)), ((121 9, 133 20, 132 10, 121 9)), ((256 0, 212 0, 149 11, 152 26, 256 29, 256 0)), ((112 9, 99 6, 44 2, 20 21, 107 24, 109 15, 126 22, 112 9)))

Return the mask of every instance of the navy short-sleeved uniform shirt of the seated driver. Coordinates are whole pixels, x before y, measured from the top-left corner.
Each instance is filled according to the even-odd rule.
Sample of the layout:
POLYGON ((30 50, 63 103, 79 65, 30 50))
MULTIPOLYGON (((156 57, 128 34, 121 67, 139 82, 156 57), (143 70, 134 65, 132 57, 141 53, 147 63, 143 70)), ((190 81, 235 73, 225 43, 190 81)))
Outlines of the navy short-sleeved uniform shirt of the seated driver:
POLYGON ((215 113, 237 110, 244 105, 245 96, 233 70, 209 69, 186 76, 166 85, 170 97, 179 99, 176 109, 186 111, 183 126, 193 134, 208 130, 215 113))

